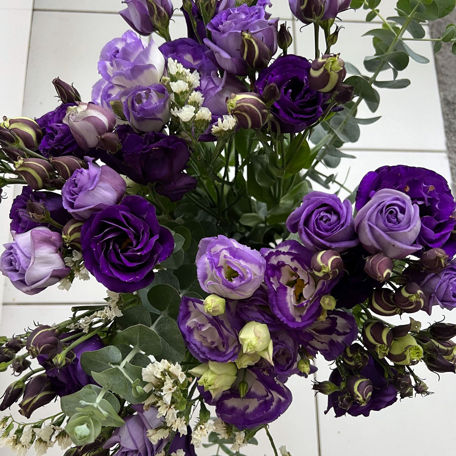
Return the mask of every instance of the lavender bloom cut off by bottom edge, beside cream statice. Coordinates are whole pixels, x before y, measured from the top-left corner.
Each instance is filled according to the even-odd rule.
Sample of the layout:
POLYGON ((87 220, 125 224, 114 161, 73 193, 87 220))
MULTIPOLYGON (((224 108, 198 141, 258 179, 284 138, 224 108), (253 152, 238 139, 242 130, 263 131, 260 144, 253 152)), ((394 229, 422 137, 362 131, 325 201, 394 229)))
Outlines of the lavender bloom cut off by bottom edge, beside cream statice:
POLYGON ((163 424, 164 418, 157 417, 158 410, 150 407, 145 410, 142 404, 131 405, 137 413, 124 418, 125 424, 116 428, 106 440, 103 448, 119 446, 118 456, 155 456, 168 443, 167 439, 159 440, 155 445, 147 437, 147 430, 163 424))

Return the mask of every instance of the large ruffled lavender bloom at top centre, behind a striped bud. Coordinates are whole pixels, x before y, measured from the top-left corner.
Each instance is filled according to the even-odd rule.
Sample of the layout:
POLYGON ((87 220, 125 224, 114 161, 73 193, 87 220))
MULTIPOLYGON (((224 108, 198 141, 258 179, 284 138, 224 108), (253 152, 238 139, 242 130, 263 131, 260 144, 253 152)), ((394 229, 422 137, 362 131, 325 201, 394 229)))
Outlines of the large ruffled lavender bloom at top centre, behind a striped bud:
POLYGON ((211 40, 204 39, 204 44, 214 52, 218 65, 228 73, 237 76, 247 75, 247 63, 241 56, 241 32, 249 30, 255 38, 263 41, 274 55, 277 51, 277 24, 279 19, 270 20, 270 14, 263 5, 243 4, 219 12, 207 24, 211 40))

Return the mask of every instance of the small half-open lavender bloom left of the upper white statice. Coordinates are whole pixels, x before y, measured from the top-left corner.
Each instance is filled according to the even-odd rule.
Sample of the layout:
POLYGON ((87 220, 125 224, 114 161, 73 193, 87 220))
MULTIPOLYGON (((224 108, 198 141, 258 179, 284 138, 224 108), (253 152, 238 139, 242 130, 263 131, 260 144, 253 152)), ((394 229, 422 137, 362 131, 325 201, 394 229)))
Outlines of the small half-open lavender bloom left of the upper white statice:
POLYGON ((137 131, 160 131, 171 117, 171 99, 161 84, 135 87, 124 101, 124 115, 137 131))

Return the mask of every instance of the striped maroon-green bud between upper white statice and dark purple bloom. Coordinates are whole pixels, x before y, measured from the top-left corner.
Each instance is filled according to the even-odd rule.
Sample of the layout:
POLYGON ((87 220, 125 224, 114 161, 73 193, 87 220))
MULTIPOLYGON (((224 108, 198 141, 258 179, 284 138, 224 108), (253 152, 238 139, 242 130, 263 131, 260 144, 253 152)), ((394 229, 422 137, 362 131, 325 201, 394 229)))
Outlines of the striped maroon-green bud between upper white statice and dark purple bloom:
POLYGON ((258 130, 268 121, 269 109, 256 93, 233 93, 227 98, 226 105, 228 114, 231 114, 242 128, 258 130))

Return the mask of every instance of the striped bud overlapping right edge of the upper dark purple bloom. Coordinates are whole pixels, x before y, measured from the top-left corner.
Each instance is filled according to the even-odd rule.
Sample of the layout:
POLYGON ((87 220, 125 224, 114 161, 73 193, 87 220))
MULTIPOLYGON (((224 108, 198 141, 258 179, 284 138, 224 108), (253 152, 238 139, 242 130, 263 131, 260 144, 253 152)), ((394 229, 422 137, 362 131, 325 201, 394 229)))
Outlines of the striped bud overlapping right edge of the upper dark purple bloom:
POLYGON ((324 54, 311 64, 309 87, 322 93, 334 92, 342 83, 347 71, 340 54, 324 54))

